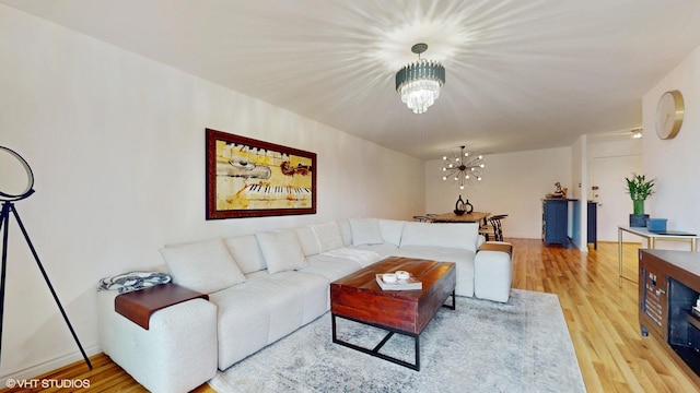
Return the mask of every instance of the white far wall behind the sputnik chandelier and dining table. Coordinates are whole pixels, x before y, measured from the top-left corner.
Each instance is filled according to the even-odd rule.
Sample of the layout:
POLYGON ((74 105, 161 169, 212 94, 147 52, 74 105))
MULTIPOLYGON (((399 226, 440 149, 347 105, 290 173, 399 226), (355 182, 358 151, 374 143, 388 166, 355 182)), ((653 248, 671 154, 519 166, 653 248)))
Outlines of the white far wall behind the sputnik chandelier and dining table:
MULTIPOLYGON (((445 152, 448 153, 448 152, 445 152)), ((541 237, 541 199, 555 183, 571 187, 571 147, 491 154, 485 157, 483 180, 460 191, 442 180, 442 159, 425 162, 428 213, 452 212, 459 194, 478 212, 508 214, 505 237, 541 237)))

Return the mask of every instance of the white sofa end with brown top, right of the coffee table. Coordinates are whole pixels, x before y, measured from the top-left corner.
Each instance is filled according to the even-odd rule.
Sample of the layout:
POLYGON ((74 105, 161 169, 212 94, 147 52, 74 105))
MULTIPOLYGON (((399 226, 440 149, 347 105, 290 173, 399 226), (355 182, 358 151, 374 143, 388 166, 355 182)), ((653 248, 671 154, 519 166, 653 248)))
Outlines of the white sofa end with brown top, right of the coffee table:
POLYGON ((474 296, 506 302, 513 282, 513 245, 487 241, 474 261, 474 296))

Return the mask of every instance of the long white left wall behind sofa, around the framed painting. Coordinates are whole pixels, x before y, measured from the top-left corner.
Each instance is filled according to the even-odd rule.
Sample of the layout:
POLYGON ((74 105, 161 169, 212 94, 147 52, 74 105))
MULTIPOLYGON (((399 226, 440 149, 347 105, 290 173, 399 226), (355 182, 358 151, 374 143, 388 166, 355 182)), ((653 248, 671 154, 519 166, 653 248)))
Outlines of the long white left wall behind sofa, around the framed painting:
MULTIPOLYGON (((16 207, 90 353, 97 281, 161 264, 166 242, 424 209, 416 158, 4 5, 0 63, 0 145, 36 177, 16 207), (205 128, 317 153, 318 214, 205 221, 205 128)), ((81 357, 10 236, 0 376, 35 376, 81 357)))

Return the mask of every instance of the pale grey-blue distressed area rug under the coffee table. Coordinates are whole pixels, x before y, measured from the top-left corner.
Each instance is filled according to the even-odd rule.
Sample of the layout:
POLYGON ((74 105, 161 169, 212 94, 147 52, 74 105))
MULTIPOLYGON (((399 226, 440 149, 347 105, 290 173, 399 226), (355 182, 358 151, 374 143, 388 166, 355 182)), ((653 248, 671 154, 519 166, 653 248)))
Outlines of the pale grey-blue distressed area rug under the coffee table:
MULTIPOLYGON (((219 371, 217 392, 585 392, 557 295, 513 289, 508 303, 457 297, 420 335, 420 371, 334 344, 330 314, 219 371)), ((338 338, 374 347, 385 332, 337 319, 338 338)), ((382 353, 413 362, 413 340, 382 353)))

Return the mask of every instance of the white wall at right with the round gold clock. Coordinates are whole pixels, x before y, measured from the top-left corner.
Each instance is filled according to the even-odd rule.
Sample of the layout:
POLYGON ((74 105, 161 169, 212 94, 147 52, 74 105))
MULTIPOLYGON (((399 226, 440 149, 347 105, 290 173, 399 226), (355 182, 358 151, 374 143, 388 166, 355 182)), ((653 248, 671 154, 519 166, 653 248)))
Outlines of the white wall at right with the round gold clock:
MULTIPOLYGON (((668 218, 669 229, 700 234, 700 47, 644 95, 642 109, 644 172, 657 179, 656 193, 646 200, 646 213, 668 218), (654 131, 656 105, 672 90, 682 93, 686 116, 675 139, 660 140, 654 131)), ((676 243, 663 247, 681 248, 676 243)))

